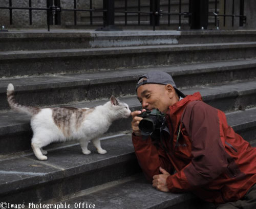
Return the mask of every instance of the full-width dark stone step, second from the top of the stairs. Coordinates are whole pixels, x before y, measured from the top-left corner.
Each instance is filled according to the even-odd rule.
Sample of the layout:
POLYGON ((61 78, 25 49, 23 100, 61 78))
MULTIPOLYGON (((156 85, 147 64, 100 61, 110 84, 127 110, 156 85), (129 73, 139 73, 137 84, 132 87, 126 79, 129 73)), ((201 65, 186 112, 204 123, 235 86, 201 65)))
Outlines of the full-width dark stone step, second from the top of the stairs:
POLYGON ((0 52, 0 77, 113 71, 256 57, 256 42, 0 52))

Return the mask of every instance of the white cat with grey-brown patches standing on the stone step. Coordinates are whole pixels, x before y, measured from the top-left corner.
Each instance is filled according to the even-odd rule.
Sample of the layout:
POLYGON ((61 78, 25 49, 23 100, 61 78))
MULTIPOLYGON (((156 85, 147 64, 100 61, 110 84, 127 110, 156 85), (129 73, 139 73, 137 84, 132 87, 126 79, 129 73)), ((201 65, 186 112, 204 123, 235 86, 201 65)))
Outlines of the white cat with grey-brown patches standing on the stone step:
POLYGON ((14 86, 11 83, 7 88, 7 100, 13 110, 31 115, 31 147, 39 160, 47 160, 47 151, 43 147, 52 142, 70 140, 79 141, 83 154, 91 153, 87 148, 89 141, 92 141, 98 153, 105 154, 106 150, 101 148, 98 137, 109 129, 114 120, 131 115, 129 106, 114 96, 111 96, 109 102, 94 108, 38 108, 20 105, 14 100, 14 86))

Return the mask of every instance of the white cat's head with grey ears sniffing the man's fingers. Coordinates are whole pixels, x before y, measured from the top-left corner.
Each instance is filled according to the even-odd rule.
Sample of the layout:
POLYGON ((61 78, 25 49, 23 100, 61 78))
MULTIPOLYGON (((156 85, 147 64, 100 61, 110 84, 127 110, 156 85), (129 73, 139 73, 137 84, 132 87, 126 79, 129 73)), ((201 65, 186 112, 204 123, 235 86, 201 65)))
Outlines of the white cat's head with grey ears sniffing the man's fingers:
POLYGON ((110 109, 115 118, 129 118, 131 115, 129 106, 124 102, 118 101, 114 96, 110 98, 110 109))

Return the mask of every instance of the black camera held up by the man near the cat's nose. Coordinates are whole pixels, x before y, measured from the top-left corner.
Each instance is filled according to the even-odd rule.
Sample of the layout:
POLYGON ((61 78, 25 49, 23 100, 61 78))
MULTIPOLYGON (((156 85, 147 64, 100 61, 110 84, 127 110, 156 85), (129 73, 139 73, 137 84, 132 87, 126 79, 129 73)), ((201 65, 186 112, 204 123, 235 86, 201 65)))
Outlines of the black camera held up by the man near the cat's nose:
POLYGON ((165 114, 158 109, 152 111, 146 110, 137 115, 143 118, 139 123, 139 129, 142 135, 152 135, 154 131, 160 132, 160 128, 165 123, 165 114))

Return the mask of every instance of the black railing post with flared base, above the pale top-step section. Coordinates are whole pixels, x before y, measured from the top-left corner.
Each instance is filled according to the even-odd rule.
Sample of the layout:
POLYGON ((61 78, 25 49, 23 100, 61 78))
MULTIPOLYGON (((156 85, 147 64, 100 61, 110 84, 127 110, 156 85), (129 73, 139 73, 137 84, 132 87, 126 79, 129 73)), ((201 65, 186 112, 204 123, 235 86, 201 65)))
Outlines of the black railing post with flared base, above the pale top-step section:
POLYGON ((96 31, 122 31, 115 27, 115 1, 103 0, 103 28, 96 31))

